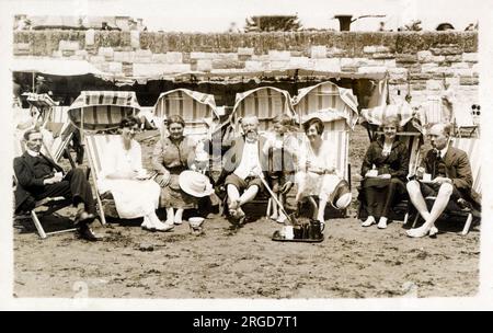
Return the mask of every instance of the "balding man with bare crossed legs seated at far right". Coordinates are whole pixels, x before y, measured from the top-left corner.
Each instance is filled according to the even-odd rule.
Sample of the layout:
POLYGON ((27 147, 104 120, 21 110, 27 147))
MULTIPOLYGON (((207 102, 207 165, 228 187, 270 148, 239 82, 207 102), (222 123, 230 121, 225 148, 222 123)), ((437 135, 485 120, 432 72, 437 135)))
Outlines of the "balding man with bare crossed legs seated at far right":
POLYGON ((429 128, 431 149, 422 165, 416 170, 416 176, 406 184, 411 202, 425 220, 425 223, 408 230, 409 237, 424 237, 435 234, 435 221, 450 200, 460 208, 469 209, 470 203, 479 206, 479 197, 472 190, 472 172, 468 156, 465 151, 449 146, 450 125, 436 124, 429 128), (423 175, 429 174, 429 180, 423 175), (428 211, 424 197, 436 196, 436 200, 428 211))

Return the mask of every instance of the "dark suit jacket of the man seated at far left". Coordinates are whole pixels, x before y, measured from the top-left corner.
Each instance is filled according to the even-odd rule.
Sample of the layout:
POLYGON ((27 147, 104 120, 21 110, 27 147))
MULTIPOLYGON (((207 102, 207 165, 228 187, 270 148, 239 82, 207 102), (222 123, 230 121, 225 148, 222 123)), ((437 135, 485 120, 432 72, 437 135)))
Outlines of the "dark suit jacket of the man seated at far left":
MULTIPOLYGON (((48 164, 50 164, 54 170, 56 170, 57 172, 64 171, 60 165, 55 163, 54 160, 44 154, 41 156, 44 157, 46 161, 48 161, 48 164)), ((14 192, 15 211, 18 211, 22 204, 24 204, 26 200, 33 203, 34 198, 31 194, 43 192, 43 190, 45 188, 43 181, 46 177, 53 175, 53 173, 41 174, 38 170, 35 170, 34 162, 35 158, 30 156, 27 151, 25 151, 22 156, 15 158, 13 161, 13 168, 16 177, 16 186, 14 192)))

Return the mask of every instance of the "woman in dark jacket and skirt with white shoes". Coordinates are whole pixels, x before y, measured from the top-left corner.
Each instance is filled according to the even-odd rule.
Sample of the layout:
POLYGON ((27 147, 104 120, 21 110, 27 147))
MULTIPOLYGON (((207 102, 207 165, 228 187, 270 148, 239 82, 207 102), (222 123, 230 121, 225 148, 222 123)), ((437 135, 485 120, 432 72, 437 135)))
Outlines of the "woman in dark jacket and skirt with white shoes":
POLYGON ((405 145, 397 139, 398 117, 385 118, 381 129, 383 135, 370 143, 363 160, 358 199, 368 214, 362 226, 369 227, 379 219, 378 228, 385 229, 390 208, 406 193, 409 156, 405 145))

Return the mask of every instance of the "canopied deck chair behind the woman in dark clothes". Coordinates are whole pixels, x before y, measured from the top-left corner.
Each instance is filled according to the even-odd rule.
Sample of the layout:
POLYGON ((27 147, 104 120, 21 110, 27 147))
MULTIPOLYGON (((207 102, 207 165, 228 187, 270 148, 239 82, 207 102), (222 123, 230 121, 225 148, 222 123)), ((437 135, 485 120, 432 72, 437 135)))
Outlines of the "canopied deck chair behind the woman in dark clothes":
MULTIPOLYGON (((367 129, 370 141, 376 140, 378 136, 383 134, 379 130, 379 127, 383 123, 383 119, 390 116, 397 116, 400 119, 399 125, 401 128, 397 133, 397 136, 408 147, 409 175, 414 175, 422 156, 421 147, 424 142, 423 134, 425 128, 422 125, 424 119, 423 110, 414 111, 406 102, 362 110, 360 122, 367 129)), ((404 200, 393 207, 394 213, 395 210, 405 211, 403 216, 404 225, 409 219, 408 205, 409 200, 404 200)), ((360 206, 358 216, 365 217, 364 215, 363 207, 360 206)))

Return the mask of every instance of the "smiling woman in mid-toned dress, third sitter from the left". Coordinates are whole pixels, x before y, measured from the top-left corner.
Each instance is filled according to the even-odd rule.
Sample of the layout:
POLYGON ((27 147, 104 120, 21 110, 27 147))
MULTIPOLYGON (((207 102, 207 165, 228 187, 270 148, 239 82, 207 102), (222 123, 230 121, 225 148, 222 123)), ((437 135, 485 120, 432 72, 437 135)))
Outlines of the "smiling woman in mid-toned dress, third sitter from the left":
POLYGON ((168 118, 169 136, 156 143, 152 152, 152 168, 158 172, 156 181, 161 186, 161 207, 167 208, 165 225, 182 223, 184 209, 196 208, 197 198, 183 192, 179 176, 195 161, 196 143, 183 135, 185 122, 179 115, 168 118))

